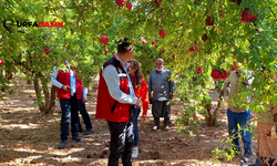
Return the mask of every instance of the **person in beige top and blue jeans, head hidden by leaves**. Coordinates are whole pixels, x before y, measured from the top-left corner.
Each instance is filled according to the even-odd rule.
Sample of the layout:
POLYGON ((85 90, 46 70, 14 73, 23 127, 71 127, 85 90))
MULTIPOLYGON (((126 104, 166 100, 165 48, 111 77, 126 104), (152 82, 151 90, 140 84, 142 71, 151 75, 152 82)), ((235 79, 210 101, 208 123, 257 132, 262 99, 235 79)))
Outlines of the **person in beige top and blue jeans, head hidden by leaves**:
MULTIPOLYGON (((242 71, 239 70, 239 65, 236 61, 233 64, 236 70, 233 71, 229 76, 224 81, 224 93, 227 93, 227 86, 229 89, 229 98, 237 100, 237 94, 242 85, 249 87, 254 79, 252 79, 250 71, 242 71), (243 77, 243 74, 246 74, 246 79, 243 77)), ((247 98, 249 100, 249 98, 247 98)), ((240 101, 239 101, 240 102, 240 101)), ((249 102, 249 101, 247 101, 249 102)), ((242 139, 244 143, 244 156, 243 159, 245 162, 249 162, 252 158, 252 136, 250 136, 250 110, 246 110, 245 106, 242 106, 243 103, 233 103, 228 104, 227 108, 227 120, 228 120, 228 133, 229 136, 233 138, 233 143, 235 146, 233 147, 235 154, 238 154, 240 151, 239 142, 238 142, 238 133, 242 135, 242 139), (238 127, 239 126, 239 127, 238 127), (242 128, 240 128, 242 127, 242 128)))

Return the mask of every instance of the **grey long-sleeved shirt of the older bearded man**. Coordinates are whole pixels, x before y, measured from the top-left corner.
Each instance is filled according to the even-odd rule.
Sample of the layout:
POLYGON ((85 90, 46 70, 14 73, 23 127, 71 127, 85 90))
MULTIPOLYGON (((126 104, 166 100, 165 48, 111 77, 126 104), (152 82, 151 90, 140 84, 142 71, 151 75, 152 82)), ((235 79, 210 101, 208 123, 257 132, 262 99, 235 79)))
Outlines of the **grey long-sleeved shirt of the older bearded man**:
POLYGON ((154 101, 168 101, 173 91, 175 91, 175 83, 171 80, 172 72, 163 69, 161 73, 153 70, 150 73, 148 93, 153 91, 154 101))

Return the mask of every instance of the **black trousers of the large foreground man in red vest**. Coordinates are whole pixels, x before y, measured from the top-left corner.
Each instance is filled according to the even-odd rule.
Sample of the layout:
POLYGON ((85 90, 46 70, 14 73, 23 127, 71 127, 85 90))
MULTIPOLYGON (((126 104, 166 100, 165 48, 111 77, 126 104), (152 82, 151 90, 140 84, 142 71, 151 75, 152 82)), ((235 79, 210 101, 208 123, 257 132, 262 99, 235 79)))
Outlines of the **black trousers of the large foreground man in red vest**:
POLYGON ((110 156, 107 166, 119 166, 122 157, 123 166, 132 166, 132 147, 134 145, 134 105, 130 106, 130 122, 106 121, 111 133, 110 156))

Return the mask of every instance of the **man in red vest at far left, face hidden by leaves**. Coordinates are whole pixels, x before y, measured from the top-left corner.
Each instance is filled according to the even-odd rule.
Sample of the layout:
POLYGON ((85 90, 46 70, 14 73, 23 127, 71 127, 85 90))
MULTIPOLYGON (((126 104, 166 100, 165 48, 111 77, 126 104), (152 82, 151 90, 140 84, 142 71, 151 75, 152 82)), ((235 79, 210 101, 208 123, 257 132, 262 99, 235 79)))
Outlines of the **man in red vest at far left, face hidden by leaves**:
POLYGON ((82 141, 82 137, 78 136, 78 103, 83 98, 83 85, 75 74, 73 66, 68 66, 64 70, 54 69, 51 75, 51 82, 57 86, 57 96, 60 100, 62 110, 59 148, 64 148, 66 144, 70 118, 72 138, 76 142, 82 141))

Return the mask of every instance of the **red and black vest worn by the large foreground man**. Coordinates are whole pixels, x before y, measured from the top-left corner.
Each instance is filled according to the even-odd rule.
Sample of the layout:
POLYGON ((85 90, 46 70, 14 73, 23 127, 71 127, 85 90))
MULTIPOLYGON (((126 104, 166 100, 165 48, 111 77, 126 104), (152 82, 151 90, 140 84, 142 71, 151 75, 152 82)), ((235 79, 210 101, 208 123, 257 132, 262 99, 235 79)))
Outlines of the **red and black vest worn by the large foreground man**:
MULTIPOLYGON (((119 73, 120 76, 120 90, 126 94, 130 94, 129 81, 126 72, 123 69, 121 62, 115 60, 115 58, 110 59, 104 63, 105 66, 112 64, 119 73), (122 76, 123 75, 123 76, 122 76)), ((110 122, 129 122, 130 121, 130 104, 119 103, 109 93, 107 85, 102 75, 102 70, 100 71, 99 80, 99 92, 98 92, 98 104, 95 118, 104 118, 110 122)))

